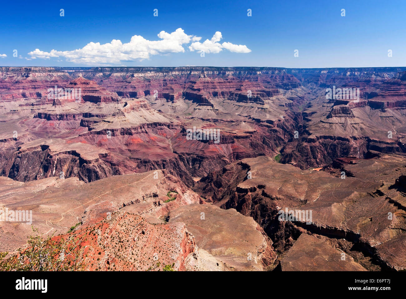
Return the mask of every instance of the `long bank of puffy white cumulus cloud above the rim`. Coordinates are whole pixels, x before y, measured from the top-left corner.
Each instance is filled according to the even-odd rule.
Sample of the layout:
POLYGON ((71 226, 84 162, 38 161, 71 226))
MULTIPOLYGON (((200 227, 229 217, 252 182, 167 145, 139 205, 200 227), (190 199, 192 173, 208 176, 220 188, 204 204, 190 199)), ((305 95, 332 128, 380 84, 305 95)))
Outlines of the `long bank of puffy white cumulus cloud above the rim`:
POLYGON ((190 44, 190 51, 218 53, 223 48, 238 53, 251 52, 246 46, 234 45, 229 42, 219 44, 222 39, 221 32, 217 31, 212 39, 200 42, 201 37, 187 35, 182 28, 176 29, 172 33, 161 31, 158 33, 160 40, 150 41, 140 35, 131 37, 130 42, 123 44, 118 39, 113 39, 110 43, 100 44, 90 42, 80 49, 71 51, 51 50, 45 52, 35 49, 28 53, 30 59, 50 59, 53 57, 64 57, 66 61, 73 63, 83 63, 86 65, 99 64, 120 64, 123 61, 134 61, 149 59, 151 55, 164 55, 169 53, 185 52, 184 44, 190 44))

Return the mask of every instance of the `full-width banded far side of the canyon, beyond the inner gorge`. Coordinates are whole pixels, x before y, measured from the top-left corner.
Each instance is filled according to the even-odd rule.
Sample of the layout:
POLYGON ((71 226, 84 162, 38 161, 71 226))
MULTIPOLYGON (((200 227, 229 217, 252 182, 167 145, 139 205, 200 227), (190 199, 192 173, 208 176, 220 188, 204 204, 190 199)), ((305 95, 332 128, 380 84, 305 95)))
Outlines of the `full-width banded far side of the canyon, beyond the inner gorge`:
MULTIPOLYGON (((80 161, 67 162, 75 157, 64 158, 64 165, 60 159, 61 168, 72 169, 69 175, 85 181, 164 167, 192 186, 192 177, 229 162, 278 153, 283 163, 320 167, 346 155, 365 157, 368 150, 404 151, 402 130, 393 128, 406 125, 402 114, 406 81, 399 71, 1 68, 0 85, 5 89, 0 94, 1 118, 15 121, 2 139, 17 131, 23 143, 69 137, 108 151, 100 157, 101 164, 90 168, 83 168, 80 161), (79 103, 67 96, 48 98, 48 88, 55 85, 80 88, 79 103), (361 99, 326 102, 324 90, 333 85, 360 88, 361 99), (220 129, 219 142, 187 140, 190 127, 220 129)), ((14 158, 2 173, 20 180, 38 177, 42 166, 35 166, 36 174, 28 174, 20 160, 31 158, 15 161, 17 148, 7 151, 3 155, 14 158)), ((29 155, 38 160, 37 154, 29 155)))

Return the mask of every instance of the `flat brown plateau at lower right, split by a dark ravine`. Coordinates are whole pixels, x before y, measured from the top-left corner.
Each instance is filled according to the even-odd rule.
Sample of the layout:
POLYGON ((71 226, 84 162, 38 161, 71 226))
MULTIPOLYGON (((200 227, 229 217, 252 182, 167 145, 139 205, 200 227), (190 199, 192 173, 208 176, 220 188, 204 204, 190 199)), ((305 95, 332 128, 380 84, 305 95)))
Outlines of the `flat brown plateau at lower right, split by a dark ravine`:
MULTIPOLYGON (((374 257, 376 260, 372 264, 363 264, 368 268, 379 266, 399 270, 406 266, 405 263, 401 260, 395 262, 385 249, 392 248, 398 257, 404 254, 403 249, 393 247, 396 242, 404 242, 400 229, 404 227, 404 197, 401 195, 404 189, 395 190, 403 180, 403 176, 397 178, 399 171, 405 171, 398 167, 403 164, 404 157, 395 155, 353 158, 341 161, 338 169, 330 168, 333 173, 330 175, 326 171, 303 172, 268 157, 257 157, 212 172, 202 178, 194 190, 207 202, 252 216, 273 240, 277 251, 289 250, 288 255, 281 256, 282 270, 288 270, 289 260, 294 259, 289 253, 293 254, 296 247, 304 246, 302 250, 307 250, 312 246, 312 242, 299 245, 299 240, 304 239, 302 234, 316 236, 356 259, 363 255, 363 258, 374 257), (348 175, 345 179, 340 177, 341 171, 348 175), (375 204, 372 205, 372 201, 375 204), (285 209, 311 212, 311 219, 280 221, 280 212, 285 209), (388 219, 388 213, 397 215, 396 219, 388 219), (368 222, 365 217, 369 217, 368 222), (400 230, 391 234, 395 227, 400 230), (348 244, 337 244, 334 238, 345 239, 348 244), (357 248, 355 251, 358 252, 350 251, 351 247, 357 248)), ((325 250, 339 256, 330 247, 325 250)), ((362 269, 358 264, 340 264, 339 260, 327 259, 324 266, 362 269)), ((305 264, 311 268, 314 266, 311 261, 305 264)))

